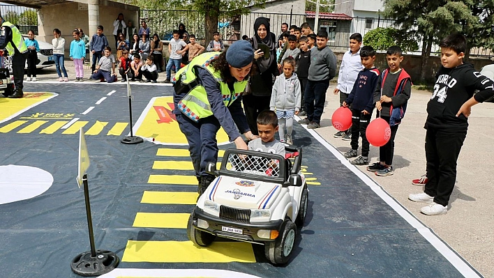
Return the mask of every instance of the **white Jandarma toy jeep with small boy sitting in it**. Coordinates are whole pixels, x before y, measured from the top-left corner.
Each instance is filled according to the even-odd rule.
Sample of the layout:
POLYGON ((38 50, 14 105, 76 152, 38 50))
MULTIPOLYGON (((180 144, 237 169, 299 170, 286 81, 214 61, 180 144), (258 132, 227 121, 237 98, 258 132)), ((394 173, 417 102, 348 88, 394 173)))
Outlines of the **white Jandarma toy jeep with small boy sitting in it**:
POLYGON ((271 263, 289 261, 297 227, 304 226, 308 189, 300 173, 301 148, 281 155, 251 150, 225 151, 216 179, 197 200, 187 235, 195 245, 208 246, 216 236, 264 245, 271 263))

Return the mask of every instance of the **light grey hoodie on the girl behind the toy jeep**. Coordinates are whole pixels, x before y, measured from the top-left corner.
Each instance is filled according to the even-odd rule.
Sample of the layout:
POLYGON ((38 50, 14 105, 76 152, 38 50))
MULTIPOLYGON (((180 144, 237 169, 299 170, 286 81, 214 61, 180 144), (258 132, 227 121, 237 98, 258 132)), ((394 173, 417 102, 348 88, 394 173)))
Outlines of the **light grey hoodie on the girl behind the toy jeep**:
POLYGON ((273 85, 271 93, 271 110, 293 110, 300 109, 300 82, 297 74, 294 72, 290 78, 285 75, 278 75, 273 85))

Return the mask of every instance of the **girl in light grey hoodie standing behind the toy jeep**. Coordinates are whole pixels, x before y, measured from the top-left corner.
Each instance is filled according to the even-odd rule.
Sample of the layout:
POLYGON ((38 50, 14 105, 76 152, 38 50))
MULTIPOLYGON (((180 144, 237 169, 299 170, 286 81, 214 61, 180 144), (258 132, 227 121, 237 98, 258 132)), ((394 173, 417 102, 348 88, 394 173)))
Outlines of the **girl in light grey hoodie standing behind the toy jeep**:
POLYGON ((293 144, 293 116, 299 114, 301 98, 300 82, 294 70, 295 60, 292 57, 283 60, 283 75, 276 77, 269 104, 271 111, 278 116, 280 141, 289 145, 293 144))

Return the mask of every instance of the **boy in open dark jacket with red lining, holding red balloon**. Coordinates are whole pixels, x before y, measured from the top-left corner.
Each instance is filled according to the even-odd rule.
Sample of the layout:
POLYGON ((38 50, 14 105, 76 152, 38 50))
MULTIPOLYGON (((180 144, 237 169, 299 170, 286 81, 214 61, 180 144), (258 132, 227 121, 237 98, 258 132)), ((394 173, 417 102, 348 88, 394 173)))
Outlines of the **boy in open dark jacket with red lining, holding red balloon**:
POLYGON ((374 102, 381 118, 389 123, 391 137, 386 145, 379 147, 379 162, 367 167, 367 171, 373 171, 377 176, 391 176, 394 172, 394 137, 398 131, 398 124, 405 116, 407 102, 412 91, 412 81, 403 68, 400 67, 403 56, 401 48, 392 46, 387 49, 386 60, 389 68, 384 70, 377 80, 374 91, 374 102))

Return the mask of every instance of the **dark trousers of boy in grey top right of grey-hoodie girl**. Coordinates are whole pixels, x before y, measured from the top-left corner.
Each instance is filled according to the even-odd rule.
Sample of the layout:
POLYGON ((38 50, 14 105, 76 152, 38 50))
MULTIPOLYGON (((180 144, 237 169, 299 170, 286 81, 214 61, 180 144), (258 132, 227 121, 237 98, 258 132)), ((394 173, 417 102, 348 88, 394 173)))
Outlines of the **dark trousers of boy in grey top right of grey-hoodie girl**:
POLYGON ((326 102, 326 91, 329 87, 329 79, 321 81, 308 80, 306 86, 305 106, 307 118, 311 122, 321 123, 321 115, 326 102))

